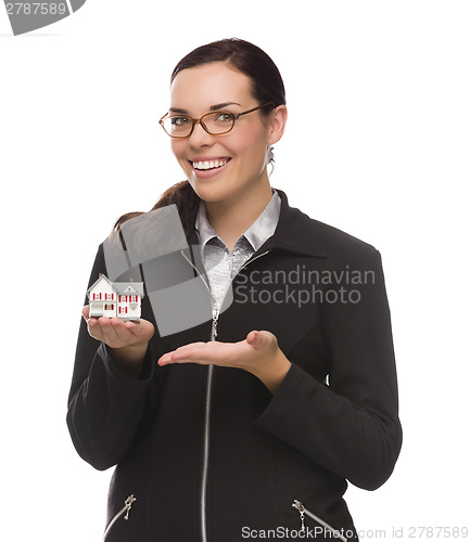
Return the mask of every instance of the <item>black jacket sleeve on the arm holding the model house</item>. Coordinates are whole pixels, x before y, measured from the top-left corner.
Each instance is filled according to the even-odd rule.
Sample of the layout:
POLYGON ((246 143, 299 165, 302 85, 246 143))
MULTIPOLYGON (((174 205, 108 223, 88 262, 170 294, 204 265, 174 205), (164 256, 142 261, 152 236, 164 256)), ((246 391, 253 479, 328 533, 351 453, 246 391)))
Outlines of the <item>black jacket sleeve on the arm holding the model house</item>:
MULTIPOLYGON (((100 245, 89 286, 105 273, 100 245)), ((86 300, 86 304, 88 300, 86 300)), ((151 344, 140 378, 117 369, 109 347, 93 337, 81 319, 68 396, 67 426, 78 454, 94 468, 104 470, 124 459, 142 421, 147 391, 153 380, 151 344)))

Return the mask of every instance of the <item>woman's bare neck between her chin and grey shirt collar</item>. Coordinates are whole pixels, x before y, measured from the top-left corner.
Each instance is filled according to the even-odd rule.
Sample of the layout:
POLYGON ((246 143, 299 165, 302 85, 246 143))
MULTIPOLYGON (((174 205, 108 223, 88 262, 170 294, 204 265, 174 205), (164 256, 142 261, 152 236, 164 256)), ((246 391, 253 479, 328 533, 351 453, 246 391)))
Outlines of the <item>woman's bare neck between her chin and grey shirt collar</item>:
POLYGON ((221 202, 204 202, 207 219, 228 249, 233 249, 237 240, 264 211, 272 197, 272 190, 267 180, 245 192, 242 197, 221 202))

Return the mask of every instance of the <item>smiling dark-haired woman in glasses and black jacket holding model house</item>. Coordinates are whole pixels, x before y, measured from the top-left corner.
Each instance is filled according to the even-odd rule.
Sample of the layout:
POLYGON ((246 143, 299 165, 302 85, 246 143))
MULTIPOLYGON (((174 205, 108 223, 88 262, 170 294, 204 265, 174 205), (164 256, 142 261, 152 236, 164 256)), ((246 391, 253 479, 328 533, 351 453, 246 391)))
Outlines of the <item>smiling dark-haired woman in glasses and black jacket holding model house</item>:
MULTIPOLYGON (((86 461, 116 465, 109 541, 357 539, 346 480, 373 490, 394 468, 380 254, 271 189, 285 121, 281 76, 251 43, 203 46, 174 70, 161 124, 188 181, 154 209, 176 204, 199 249, 176 250, 169 274, 204 283, 213 318, 158 333, 149 296, 139 323, 84 308, 67 423, 86 461)), ((122 217, 115 240, 139 218, 122 217)), ((103 245, 90 284, 107 271, 103 245)), ((148 289, 158 264, 134 268, 148 289)))

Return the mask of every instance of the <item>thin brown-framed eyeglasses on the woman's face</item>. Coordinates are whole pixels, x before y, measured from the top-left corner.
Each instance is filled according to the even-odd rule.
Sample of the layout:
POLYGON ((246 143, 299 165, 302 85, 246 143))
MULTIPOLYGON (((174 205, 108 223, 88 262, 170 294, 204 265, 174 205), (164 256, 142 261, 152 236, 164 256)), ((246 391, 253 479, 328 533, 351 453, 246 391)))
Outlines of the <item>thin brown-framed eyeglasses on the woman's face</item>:
POLYGON ((166 113, 158 122, 170 138, 189 138, 198 122, 207 133, 220 136, 228 133, 233 128, 234 121, 242 115, 247 115, 268 105, 275 106, 274 102, 267 102, 243 113, 237 113, 236 115, 226 111, 218 111, 206 113, 201 118, 192 118, 188 115, 169 115, 166 113))

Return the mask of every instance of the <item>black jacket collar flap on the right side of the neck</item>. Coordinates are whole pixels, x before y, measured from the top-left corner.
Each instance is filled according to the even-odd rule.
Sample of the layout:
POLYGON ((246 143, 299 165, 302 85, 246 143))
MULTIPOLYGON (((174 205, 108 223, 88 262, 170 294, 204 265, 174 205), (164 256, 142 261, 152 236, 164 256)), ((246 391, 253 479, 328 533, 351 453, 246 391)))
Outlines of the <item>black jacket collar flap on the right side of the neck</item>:
MULTIPOLYGON (((296 207, 289 205, 288 196, 276 189, 281 198, 279 221, 275 233, 256 250, 253 256, 272 248, 289 250, 295 254, 325 258, 327 253, 318 238, 310 217, 296 207)), ((195 228, 188 238, 189 245, 198 244, 195 228)))

